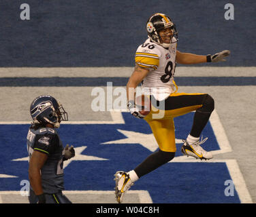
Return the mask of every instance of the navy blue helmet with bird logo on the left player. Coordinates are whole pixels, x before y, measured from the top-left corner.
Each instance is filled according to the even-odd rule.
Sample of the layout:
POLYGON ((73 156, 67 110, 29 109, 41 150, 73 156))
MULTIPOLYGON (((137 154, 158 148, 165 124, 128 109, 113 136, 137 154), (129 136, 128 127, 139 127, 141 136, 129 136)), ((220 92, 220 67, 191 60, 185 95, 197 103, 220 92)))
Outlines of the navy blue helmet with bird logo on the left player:
POLYGON ((67 121, 68 116, 61 103, 49 95, 38 96, 30 106, 33 123, 46 125, 51 123, 59 128, 61 121, 67 121))

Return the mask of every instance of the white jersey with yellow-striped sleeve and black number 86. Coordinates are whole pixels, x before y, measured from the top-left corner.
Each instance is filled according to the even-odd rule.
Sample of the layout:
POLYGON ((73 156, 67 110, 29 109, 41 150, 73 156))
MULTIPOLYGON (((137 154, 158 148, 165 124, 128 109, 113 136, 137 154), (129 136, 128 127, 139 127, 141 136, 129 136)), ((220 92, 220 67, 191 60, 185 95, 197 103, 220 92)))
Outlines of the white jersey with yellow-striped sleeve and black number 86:
POLYGON ((169 48, 164 48, 147 39, 138 47, 135 63, 150 70, 142 82, 144 94, 153 94, 157 100, 163 100, 174 92, 176 87, 174 82, 176 46, 177 43, 172 43, 169 48))

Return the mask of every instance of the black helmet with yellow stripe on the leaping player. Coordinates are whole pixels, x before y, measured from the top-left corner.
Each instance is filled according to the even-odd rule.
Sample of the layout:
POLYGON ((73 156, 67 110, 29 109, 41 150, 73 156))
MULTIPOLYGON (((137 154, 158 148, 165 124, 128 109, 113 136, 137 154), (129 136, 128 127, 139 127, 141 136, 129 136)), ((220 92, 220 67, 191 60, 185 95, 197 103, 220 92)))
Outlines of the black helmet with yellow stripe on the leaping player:
POLYGON ((146 22, 146 31, 148 32, 148 37, 162 45, 163 47, 169 47, 172 43, 178 41, 178 32, 176 31, 176 26, 172 20, 165 14, 154 14, 146 22), (172 30, 172 35, 170 36, 170 43, 163 43, 160 37, 160 32, 165 28, 170 28, 172 30), (173 39, 175 37, 176 40, 173 39))

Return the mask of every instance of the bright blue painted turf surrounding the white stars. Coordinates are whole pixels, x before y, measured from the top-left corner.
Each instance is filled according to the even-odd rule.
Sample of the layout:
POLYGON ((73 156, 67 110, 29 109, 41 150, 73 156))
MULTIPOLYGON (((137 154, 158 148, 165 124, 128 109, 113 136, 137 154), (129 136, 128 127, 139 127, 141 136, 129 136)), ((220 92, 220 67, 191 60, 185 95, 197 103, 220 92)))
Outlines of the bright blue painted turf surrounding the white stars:
MULTIPOLYGON (((123 117, 125 124, 61 125, 59 134, 64 144, 74 144, 76 148, 87 146, 82 155, 105 159, 69 163, 65 168, 66 190, 112 191, 113 174, 116 170, 131 170, 151 153, 138 143, 102 144, 125 138, 118 130, 151 133, 143 120, 135 119, 129 113, 123 113, 123 117)), ((193 113, 175 119, 176 138, 187 136, 192 120, 193 113)), ((0 132, 5 132, 1 133, 1 144, 6 144, 0 155, 0 174, 18 176, 1 178, 0 191, 19 191, 20 181, 27 179, 27 161, 12 160, 27 157, 25 139, 28 127, 29 125, 0 125, 0 132)), ((209 137, 205 147, 207 151, 219 150, 210 123, 203 135, 209 137)), ((177 144, 176 157, 182 155, 180 146, 181 144, 177 144)), ((224 162, 167 163, 141 178, 132 189, 148 191, 153 203, 239 203, 237 193, 233 197, 225 196, 224 182, 230 179, 224 162)))

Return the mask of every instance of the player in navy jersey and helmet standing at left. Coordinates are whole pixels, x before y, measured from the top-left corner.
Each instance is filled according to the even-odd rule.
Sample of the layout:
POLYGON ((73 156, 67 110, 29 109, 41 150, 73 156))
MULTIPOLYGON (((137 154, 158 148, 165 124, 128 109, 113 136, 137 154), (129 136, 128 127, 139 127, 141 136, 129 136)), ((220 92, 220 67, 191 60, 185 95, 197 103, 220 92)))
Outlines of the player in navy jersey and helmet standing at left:
POLYGON ((56 128, 67 113, 55 98, 38 96, 30 107, 33 122, 27 135, 29 153, 29 203, 71 203, 62 191, 63 161, 75 156, 74 146, 65 146, 56 128))

